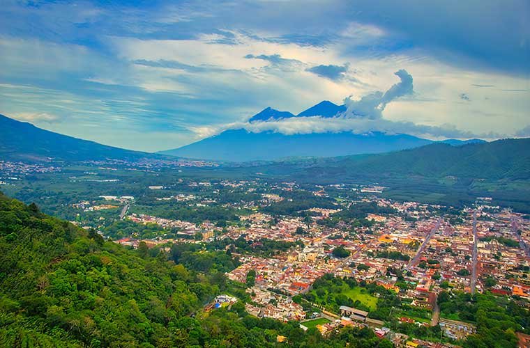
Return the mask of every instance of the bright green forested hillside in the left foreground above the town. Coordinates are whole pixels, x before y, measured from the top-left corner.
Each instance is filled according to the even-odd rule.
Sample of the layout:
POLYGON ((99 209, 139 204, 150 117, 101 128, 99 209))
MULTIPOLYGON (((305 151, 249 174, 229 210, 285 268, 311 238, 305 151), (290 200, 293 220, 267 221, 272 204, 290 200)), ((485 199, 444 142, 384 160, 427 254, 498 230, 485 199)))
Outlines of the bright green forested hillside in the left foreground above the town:
POLYGON ((204 312, 215 294, 236 291, 223 273, 235 260, 187 245, 126 249, 0 193, 0 347, 391 345, 369 329, 324 339, 298 322, 251 317, 242 301, 204 312))

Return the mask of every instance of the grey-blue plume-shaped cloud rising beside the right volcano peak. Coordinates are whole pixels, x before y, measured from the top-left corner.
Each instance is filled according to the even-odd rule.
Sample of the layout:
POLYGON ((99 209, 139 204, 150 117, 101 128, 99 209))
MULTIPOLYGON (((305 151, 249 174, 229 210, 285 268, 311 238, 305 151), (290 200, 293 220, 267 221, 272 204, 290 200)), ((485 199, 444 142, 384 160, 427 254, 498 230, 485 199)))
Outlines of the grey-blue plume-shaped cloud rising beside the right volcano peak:
POLYGON ((347 97, 344 100, 347 106, 345 116, 349 118, 369 118, 371 120, 379 120, 383 117, 383 111, 386 105, 398 97, 404 95, 412 95, 414 92, 412 75, 407 70, 398 70, 394 73, 400 78, 398 84, 393 85, 385 93, 381 91, 373 92, 364 97, 361 100, 352 100, 351 97, 347 97))

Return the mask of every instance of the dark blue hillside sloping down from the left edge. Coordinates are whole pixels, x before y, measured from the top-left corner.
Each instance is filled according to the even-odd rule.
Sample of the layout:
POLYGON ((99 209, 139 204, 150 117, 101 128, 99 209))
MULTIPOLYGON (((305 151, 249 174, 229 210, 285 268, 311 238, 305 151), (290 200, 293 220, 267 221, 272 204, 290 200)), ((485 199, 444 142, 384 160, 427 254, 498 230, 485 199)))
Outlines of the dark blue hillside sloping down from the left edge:
POLYGON ((93 141, 73 138, 28 122, 0 115, 0 157, 12 161, 86 161, 103 159, 137 160, 158 158, 146 152, 123 150, 93 141))

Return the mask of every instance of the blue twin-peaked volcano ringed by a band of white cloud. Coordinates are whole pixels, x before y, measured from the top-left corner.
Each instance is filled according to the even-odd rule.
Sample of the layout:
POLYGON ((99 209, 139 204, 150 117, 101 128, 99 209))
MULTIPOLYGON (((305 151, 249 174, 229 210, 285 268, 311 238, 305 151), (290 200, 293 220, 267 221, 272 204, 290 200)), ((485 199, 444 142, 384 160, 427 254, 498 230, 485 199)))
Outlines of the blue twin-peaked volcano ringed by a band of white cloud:
MULTIPOLYGON (((272 122, 285 118, 321 116, 333 118, 346 111, 346 106, 324 100, 294 115, 268 107, 252 116, 255 122, 272 122)), ((451 145, 480 142, 478 139, 460 141, 448 139, 451 145)), ((336 157, 345 155, 373 154, 417 148, 433 141, 409 134, 385 134, 371 132, 320 132, 310 134, 282 134, 280 132, 249 132, 246 129, 229 129, 218 135, 172 150, 160 151, 163 155, 207 159, 214 161, 271 161, 289 157, 336 157)))

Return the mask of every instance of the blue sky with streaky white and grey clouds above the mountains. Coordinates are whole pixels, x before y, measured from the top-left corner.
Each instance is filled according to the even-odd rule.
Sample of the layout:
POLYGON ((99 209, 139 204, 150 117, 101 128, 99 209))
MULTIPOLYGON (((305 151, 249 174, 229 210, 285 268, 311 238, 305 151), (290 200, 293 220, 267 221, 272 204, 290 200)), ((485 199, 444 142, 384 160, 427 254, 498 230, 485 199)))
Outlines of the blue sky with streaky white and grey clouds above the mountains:
POLYGON ((234 128, 530 136, 527 0, 3 0, 0 16, 0 113, 107 145, 234 128), (322 100, 347 111, 248 122, 322 100))

